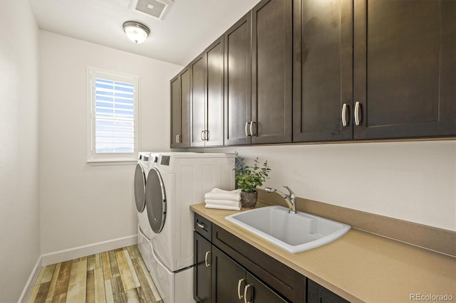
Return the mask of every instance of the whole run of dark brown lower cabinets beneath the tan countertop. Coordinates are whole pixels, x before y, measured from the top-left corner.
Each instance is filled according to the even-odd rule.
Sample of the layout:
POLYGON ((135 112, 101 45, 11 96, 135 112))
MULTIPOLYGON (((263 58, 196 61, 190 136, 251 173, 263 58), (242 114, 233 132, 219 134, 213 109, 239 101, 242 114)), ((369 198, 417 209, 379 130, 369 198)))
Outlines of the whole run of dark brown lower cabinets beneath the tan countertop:
POLYGON ((198 214, 194 235, 198 303, 348 302, 198 214))

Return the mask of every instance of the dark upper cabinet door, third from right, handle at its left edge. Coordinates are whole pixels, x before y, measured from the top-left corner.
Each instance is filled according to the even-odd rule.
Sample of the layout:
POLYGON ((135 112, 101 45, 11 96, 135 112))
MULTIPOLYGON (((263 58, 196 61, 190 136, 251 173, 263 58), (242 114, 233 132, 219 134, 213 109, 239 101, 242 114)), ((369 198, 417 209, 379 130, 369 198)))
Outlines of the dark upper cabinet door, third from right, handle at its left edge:
POLYGON ((252 9, 252 143, 291 142, 292 0, 252 9))

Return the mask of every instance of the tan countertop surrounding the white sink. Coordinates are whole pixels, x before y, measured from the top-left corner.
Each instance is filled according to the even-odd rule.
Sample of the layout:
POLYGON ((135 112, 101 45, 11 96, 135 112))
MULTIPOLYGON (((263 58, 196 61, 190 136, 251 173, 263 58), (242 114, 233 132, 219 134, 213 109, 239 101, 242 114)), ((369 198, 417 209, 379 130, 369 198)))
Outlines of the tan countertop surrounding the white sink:
MULTIPOLYGON (((259 201, 262 206, 269 205, 259 201)), ((291 254, 225 220, 239 211, 204 203, 190 208, 350 302, 456 301, 454 257, 355 228, 333 243, 291 254)))

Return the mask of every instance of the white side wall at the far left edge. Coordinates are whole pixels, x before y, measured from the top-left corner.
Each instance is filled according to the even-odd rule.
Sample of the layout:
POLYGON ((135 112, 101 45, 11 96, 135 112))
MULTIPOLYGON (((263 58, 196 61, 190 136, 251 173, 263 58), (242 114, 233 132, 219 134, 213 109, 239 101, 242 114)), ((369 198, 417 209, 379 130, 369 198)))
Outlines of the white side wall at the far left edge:
POLYGON ((38 26, 28 1, 0 1, 0 302, 40 256, 38 202, 38 26))

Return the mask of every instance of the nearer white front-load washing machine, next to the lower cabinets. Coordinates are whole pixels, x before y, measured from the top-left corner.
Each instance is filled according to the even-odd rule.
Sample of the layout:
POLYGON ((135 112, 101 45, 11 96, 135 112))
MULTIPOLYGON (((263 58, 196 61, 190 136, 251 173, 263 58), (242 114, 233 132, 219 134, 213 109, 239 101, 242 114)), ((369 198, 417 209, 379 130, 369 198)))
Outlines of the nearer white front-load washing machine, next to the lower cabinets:
MULTIPOLYGON (((234 188, 234 154, 157 154, 147 174, 145 208, 150 228, 145 262, 163 302, 193 299, 193 213, 212 188, 234 188)), ((141 252, 141 250, 140 250, 141 252)), ((141 252, 142 254, 142 252, 141 252)))

